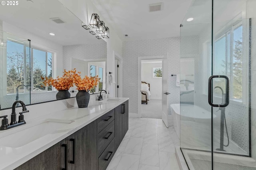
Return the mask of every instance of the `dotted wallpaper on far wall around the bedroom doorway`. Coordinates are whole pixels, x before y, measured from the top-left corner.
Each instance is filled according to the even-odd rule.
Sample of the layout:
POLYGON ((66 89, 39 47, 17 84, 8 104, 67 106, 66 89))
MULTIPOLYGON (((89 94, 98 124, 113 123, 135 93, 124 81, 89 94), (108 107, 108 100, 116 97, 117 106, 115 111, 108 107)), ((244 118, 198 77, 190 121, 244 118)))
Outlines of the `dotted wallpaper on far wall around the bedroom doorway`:
MULTIPOLYGON (((185 45, 195 46, 198 53, 198 37, 190 37, 185 45)), ((188 47, 187 49, 193 49, 188 47)), ((195 50, 194 50, 195 51, 195 50)), ((180 72, 180 37, 163 39, 125 41, 122 44, 123 70, 123 96, 130 98, 129 111, 138 113, 138 87, 130 83, 138 82, 138 57, 161 56, 168 53, 168 114, 171 114, 170 104, 180 103, 180 88, 175 84, 176 77, 171 74, 180 72)))

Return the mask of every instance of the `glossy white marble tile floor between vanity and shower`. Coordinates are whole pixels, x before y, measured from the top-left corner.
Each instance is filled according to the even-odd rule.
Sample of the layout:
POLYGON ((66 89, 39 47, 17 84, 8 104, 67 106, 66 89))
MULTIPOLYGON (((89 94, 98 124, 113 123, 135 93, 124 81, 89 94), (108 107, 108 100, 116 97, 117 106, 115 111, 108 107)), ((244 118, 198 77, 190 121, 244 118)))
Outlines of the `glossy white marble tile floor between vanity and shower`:
POLYGON ((162 119, 129 117, 129 130, 107 170, 180 170, 175 156, 179 139, 162 119))

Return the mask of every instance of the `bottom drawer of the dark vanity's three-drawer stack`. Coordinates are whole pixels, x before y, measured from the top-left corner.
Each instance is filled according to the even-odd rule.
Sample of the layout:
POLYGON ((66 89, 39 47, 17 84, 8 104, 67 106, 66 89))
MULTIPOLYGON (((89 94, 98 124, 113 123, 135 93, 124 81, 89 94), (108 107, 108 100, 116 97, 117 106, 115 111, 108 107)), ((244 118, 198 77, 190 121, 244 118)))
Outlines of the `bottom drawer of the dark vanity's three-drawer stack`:
POLYGON ((115 139, 111 141, 108 147, 100 155, 98 159, 98 170, 106 170, 114 154, 115 154, 115 139))

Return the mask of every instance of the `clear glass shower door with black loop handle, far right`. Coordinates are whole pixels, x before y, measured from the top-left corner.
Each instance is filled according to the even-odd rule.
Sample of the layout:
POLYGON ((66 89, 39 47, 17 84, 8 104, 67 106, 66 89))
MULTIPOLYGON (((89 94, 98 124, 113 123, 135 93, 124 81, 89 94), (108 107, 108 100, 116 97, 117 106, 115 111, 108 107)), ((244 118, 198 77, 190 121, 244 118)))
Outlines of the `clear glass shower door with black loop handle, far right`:
POLYGON ((227 89, 225 78, 212 79, 212 103, 221 106, 229 102, 226 107, 212 107, 216 170, 256 170, 240 161, 252 156, 250 47, 255 5, 255 0, 213 0, 212 75, 229 80, 227 89))

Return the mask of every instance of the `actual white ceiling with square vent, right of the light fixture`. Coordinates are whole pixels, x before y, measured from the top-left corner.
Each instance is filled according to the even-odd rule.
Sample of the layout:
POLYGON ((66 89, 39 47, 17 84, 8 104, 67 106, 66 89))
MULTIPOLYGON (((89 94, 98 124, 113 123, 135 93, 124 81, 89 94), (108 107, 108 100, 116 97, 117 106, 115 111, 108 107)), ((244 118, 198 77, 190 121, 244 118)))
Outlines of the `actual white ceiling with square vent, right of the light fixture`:
MULTIPOLYGON (((123 41, 180 36, 180 24, 192 0, 92 0, 106 23, 123 41), (164 3, 164 9, 149 12, 148 4, 164 3), (124 37, 128 34, 128 38, 124 37)), ((110 34, 111 34, 110 30, 110 34)))

